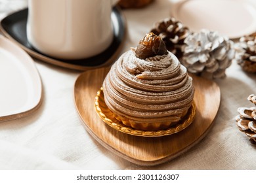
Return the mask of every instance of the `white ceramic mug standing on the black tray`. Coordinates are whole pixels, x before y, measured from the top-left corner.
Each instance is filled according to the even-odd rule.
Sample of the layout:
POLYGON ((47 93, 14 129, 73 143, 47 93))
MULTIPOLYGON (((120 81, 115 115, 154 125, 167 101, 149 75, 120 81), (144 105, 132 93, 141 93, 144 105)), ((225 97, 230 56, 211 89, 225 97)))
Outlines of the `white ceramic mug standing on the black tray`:
POLYGON ((53 58, 83 59, 110 46, 117 0, 28 0, 27 37, 53 58))

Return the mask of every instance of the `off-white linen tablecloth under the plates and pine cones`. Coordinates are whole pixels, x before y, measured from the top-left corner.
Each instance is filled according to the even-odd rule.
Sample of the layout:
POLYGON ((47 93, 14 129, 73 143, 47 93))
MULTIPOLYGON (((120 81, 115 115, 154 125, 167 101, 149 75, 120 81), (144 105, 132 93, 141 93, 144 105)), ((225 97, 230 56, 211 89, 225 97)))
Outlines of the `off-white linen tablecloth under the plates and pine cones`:
MULTIPOLYGON (((0 16, 26 6, 22 0, 1 0, 0 16)), ((169 17, 169 6, 169 1, 158 0, 146 8, 123 10, 127 37, 121 52, 137 46, 154 22, 169 17)), ((43 103, 30 116, 0 122, 0 169, 256 169, 256 146, 235 122, 238 107, 252 107, 247 96, 256 94, 256 75, 244 73, 235 62, 224 80, 216 80, 221 107, 206 137, 155 167, 119 158, 87 133, 74 105, 74 83, 81 72, 38 60, 35 65, 43 83, 43 103)))

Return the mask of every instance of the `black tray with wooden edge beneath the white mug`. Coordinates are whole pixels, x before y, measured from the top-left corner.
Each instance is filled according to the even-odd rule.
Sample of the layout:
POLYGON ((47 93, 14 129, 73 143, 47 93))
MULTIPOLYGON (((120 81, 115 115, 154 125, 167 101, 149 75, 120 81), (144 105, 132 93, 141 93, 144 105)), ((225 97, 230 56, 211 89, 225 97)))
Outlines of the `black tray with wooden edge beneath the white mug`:
POLYGON ((60 67, 85 71, 88 69, 96 69, 111 65, 112 62, 116 60, 116 57, 123 46, 126 32, 126 21, 119 7, 114 7, 112 9, 111 18, 114 27, 114 39, 112 44, 110 44, 104 52, 85 59, 55 59, 35 50, 28 42, 26 35, 28 8, 14 12, 1 20, 0 31, 7 38, 28 52, 30 56, 33 56, 33 58, 37 58, 41 61, 60 67))

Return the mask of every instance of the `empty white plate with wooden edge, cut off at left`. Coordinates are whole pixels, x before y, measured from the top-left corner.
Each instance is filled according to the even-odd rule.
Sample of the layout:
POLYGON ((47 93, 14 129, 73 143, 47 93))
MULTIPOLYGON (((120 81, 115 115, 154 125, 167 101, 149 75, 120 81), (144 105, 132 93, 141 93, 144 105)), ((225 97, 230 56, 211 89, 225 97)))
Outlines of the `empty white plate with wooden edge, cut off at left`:
POLYGON ((0 121, 32 113, 41 103, 41 93, 33 59, 0 35, 0 121))

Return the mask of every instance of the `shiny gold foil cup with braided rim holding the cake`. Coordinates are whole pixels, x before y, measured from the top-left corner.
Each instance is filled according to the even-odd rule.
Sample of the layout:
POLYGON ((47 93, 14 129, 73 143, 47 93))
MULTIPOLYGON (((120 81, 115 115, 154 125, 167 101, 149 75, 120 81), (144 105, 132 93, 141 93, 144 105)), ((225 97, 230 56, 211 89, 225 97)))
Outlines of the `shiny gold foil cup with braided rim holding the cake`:
POLYGON ((178 133, 179 131, 182 131, 183 129, 188 127, 188 125, 193 122, 196 116, 196 105, 194 101, 192 101, 192 105, 188 109, 188 112, 186 112, 186 115, 184 115, 181 121, 176 124, 173 124, 172 122, 165 122, 161 124, 135 123, 122 116, 117 116, 106 106, 106 103, 104 101, 103 88, 100 88, 95 97, 95 110, 98 116, 103 120, 103 122, 110 125, 110 127, 116 129, 117 131, 127 133, 129 135, 136 135, 142 137, 161 137, 178 133), (150 125, 150 128, 153 128, 154 130, 146 130, 148 125, 150 125), (165 127, 166 129, 160 129, 165 127))

